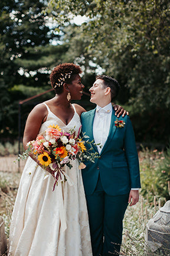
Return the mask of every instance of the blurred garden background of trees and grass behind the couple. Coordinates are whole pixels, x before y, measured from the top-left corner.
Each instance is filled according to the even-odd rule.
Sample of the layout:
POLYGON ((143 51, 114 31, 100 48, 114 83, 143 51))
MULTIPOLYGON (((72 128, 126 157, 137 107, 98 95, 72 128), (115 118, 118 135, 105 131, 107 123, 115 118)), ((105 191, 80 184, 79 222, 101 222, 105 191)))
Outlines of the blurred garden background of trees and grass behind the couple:
MULTIPOLYGON (((54 96, 48 91, 54 66, 80 65, 86 93, 96 75, 115 77, 121 86, 115 103, 130 113, 142 180, 140 203, 126 212, 130 235, 124 232, 122 255, 136 255, 135 250, 144 255, 146 222, 170 199, 169 1, 1 0, 0 7, 1 162, 17 155, 34 105, 54 96), (133 246, 131 238, 138 240, 133 246)), ((77 103, 94 108, 87 94, 77 103)), ((0 172, 7 236, 21 175, 15 167, 0 172)))

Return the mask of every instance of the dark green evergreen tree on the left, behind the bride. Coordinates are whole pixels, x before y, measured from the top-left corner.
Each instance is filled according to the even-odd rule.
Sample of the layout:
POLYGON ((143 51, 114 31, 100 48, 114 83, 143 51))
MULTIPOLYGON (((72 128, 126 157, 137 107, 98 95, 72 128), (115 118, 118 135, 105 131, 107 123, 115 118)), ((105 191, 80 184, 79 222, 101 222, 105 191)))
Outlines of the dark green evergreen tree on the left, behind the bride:
POLYGON ((50 88, 50 69, 67 50, 51 45, 60 36, 49 27, 44 8, 42 1, 0 3, 1 137, 16 137, 18 101, 50 88))

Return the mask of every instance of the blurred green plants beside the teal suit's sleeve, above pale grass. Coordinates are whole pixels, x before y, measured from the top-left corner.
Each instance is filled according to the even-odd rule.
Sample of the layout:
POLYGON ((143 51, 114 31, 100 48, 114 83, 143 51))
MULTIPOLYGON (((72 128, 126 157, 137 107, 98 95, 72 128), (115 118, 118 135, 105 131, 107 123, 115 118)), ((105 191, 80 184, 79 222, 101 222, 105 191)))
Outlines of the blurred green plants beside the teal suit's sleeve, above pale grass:
POLYGON ((143 148, 139 152, 142 195, 150 202, 153 196, 170 200, 170 148, 166 151, 149 151, 143 148))

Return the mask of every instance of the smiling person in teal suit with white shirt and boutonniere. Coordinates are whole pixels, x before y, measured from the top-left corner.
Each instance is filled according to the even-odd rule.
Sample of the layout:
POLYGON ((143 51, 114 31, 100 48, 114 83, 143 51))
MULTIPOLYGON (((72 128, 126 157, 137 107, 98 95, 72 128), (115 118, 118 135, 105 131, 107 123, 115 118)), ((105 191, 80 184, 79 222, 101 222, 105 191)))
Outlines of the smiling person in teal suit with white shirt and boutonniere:
POLYGON ((120 252, 128 203, 132 206, 139 200, 138 152, 129 116, 117 118, 111 104, 119 92, 116 79, 97 76, 89 91, 97 106, 81 114, 81 136, 86 133, 89 138, 84 139, 94 139, 93 152, 99 152, 99 158, 85 162, 81 170, 91 244, 93 256, 113 256, 120 252))

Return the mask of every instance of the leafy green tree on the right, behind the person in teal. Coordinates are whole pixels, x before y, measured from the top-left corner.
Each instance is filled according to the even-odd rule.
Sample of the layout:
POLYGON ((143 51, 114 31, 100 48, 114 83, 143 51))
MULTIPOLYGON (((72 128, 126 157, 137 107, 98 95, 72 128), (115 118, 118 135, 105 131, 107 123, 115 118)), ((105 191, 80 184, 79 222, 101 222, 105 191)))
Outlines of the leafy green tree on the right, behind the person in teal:
POLYGON ((168 0, 52 0, 48 5, 61 25, 74 15, 89 18, 70 43, 86 43, 86 63, 91 60, 118 79, 123 92, 119 102, 131 105, 139 140, 169 136, 169 8, 168 0))

